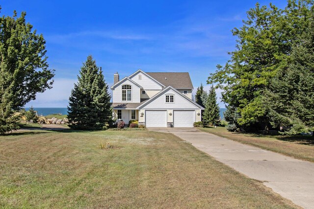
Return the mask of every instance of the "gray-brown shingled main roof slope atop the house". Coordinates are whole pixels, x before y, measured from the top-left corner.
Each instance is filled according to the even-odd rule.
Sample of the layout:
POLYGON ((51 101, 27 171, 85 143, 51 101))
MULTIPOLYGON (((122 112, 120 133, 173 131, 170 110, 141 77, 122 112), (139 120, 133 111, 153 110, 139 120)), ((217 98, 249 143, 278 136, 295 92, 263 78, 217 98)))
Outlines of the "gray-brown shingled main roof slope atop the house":
POLYGON ((158 82, 175 89, 193 89, 188 72, 146 72, 158 82), (165 79, 167 78, 167 79, 165 79))

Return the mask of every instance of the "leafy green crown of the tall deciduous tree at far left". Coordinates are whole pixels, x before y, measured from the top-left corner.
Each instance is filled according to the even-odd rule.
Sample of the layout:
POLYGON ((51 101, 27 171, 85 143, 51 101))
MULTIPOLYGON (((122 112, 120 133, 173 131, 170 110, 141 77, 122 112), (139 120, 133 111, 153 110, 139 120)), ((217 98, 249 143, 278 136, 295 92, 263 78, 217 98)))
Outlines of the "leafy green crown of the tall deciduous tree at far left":
POLYGON ((25 16, 22 12, 21 17, 17 17, 14 11, 13 17, 0 17, 0 71, 12 76, 14 110, 35 99, 36 93, 52 88, 54 76, 53 70, 48 69, 46 41, 26 23, 25 16))

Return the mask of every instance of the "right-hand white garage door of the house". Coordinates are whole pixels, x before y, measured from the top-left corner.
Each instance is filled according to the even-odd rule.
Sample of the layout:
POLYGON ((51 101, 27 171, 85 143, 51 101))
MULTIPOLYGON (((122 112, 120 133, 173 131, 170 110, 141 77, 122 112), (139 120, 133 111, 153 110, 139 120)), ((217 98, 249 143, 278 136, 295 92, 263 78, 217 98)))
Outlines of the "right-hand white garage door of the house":
POLYGON ((174 127, 193 127, 195 121, 194 110, 175 110, 173 111, 174 127))

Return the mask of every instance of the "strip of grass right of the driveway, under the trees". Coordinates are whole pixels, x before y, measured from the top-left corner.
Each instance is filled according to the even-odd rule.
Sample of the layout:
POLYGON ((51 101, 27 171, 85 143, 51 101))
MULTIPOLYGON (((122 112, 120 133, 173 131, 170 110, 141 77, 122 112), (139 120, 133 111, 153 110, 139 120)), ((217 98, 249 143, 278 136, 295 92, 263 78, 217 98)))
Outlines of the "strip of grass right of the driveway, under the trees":
POLYGON ((205 127, 199 129, 219 137, 232 139, 234 141, 281 153, 296 159, 314 162, 314 140, 311 140, 311 137, 284 135, 272 136, 252 133, 243 134, 229 132, 225 127, 205 127))

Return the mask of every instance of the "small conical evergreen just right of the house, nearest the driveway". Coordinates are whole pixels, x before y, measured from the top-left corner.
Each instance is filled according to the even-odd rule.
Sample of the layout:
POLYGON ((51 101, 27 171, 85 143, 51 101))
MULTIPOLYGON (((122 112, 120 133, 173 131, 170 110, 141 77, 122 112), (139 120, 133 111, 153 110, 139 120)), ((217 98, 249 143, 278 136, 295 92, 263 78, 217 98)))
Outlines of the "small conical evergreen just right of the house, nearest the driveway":
POLYGON ((217 104, 215 88, 213 86, 211 86, 209 90, 208 99, 205 104, 203 121, 208 125, 218 125, 220 123, 220 110, 217 104))

